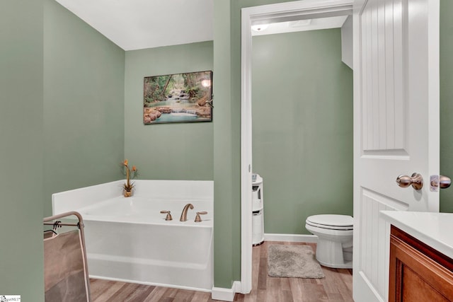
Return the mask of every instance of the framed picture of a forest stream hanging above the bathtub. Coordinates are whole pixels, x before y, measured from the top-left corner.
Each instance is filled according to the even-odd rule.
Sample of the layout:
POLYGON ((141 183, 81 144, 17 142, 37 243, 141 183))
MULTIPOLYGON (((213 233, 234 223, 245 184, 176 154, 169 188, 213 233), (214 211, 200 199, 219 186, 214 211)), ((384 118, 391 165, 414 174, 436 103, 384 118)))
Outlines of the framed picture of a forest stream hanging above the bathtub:
POLYGON ((212 71, 144 78, 144 124, 211 121, 212 71))

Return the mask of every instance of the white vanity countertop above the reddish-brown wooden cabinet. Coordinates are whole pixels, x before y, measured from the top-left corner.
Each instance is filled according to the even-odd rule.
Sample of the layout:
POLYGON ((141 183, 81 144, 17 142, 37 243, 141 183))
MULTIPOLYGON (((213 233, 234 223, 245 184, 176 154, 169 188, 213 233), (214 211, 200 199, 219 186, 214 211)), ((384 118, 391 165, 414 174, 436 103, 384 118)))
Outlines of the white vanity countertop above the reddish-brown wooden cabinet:
POLYGON ((431 248, 453 258, 452 213, 381 211, 381 216, 431 248))

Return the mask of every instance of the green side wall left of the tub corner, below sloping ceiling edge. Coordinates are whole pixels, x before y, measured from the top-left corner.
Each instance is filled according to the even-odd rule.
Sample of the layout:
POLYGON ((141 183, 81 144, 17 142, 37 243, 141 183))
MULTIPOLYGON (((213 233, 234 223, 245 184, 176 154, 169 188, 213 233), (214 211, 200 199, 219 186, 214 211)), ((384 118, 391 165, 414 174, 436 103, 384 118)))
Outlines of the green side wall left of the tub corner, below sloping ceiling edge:
POLYGON ((44 201, 122 178, 125 51, 56 1, 44 11, 44 201))

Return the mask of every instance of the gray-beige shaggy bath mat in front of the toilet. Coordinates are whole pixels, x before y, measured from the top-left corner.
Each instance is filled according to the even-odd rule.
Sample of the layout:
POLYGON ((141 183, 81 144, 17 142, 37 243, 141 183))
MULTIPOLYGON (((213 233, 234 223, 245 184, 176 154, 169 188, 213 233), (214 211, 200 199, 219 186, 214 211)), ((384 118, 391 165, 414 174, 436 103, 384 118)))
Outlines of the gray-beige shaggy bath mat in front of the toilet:
POLYGON ((324 278, 309 245, 269 245, 268 274, 270 277, 324 278))

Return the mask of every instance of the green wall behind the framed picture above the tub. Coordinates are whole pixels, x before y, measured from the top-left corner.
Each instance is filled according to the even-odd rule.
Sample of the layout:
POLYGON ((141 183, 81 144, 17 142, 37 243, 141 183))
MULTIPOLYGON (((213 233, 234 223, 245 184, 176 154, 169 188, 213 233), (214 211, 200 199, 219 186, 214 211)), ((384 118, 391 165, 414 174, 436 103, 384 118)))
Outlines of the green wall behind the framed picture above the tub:
POLYGON ((212 70, 212 41, 128 51, 125 62, 125 157, 138 178, 212 180, 212 122, 143 124, 143 78, 212 70))

